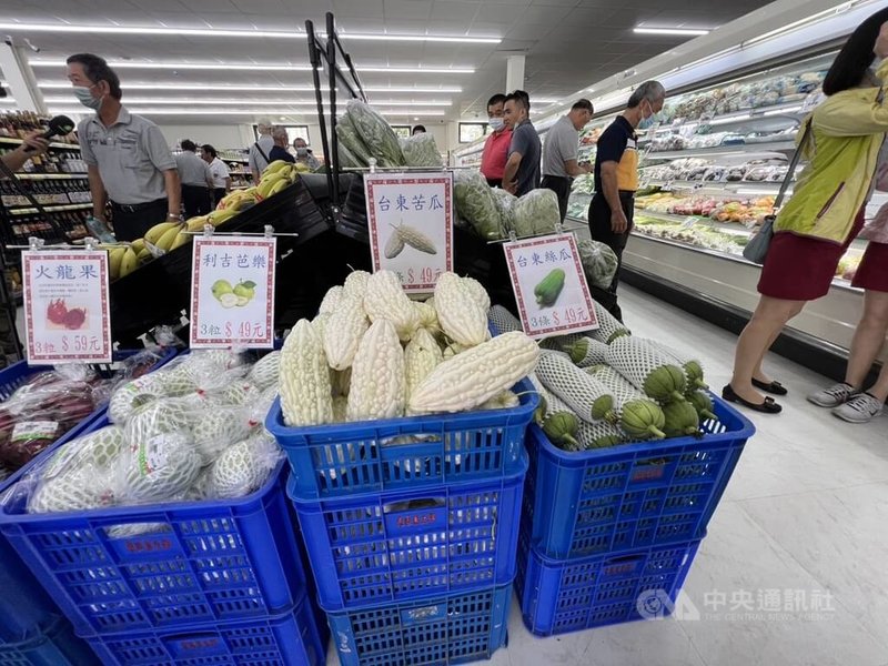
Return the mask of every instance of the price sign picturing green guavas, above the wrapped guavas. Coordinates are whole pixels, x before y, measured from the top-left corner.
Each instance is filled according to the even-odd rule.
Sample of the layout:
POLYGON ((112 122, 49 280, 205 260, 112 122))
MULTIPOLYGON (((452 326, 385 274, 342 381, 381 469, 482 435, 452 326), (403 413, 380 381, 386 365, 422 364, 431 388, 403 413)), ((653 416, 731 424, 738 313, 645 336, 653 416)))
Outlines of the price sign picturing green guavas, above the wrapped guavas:
POLYGON ((274 346, 276 239, 194 238, 191 346, 274 346))

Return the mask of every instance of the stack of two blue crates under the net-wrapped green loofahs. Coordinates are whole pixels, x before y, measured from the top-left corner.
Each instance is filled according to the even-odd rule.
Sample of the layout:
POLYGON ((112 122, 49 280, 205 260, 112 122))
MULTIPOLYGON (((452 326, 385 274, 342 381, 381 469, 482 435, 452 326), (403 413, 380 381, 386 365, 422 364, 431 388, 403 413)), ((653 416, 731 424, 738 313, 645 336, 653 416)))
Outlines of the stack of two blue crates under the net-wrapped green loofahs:
POLYGON ((515 589, 552 636, 669 615, 755 428, 715 396, 703 437, 565 452, 532 425, 515 589))

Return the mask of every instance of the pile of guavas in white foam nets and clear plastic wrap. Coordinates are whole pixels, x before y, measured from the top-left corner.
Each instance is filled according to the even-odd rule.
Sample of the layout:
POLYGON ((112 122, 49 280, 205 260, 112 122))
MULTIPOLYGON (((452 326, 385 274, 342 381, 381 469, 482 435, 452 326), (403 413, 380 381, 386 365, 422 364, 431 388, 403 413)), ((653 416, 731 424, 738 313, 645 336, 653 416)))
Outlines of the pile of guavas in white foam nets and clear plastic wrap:
MULTIPOLYGON (((236 498, 259 490, 282 455, 263 426, 280 359, 248 360, 193 352, 125 382, 112 396, 119 421, 61 446, 30 468, 11 496, 24 494, 31 513, 54 513, 236 498)), ((109 535, 162 528, 121 524, 109 535)))

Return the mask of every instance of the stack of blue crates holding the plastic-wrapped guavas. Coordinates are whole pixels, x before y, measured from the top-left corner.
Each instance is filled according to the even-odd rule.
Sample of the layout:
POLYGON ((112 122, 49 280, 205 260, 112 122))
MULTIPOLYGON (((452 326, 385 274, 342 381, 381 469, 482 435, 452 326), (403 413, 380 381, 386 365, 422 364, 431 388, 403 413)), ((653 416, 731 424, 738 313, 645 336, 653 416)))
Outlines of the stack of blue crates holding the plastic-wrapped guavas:
MULTIPOLYGON (((80 434, 105 425, 103 413, 80 434)), ((51 514, 27 513, 16 493, 0 532, 108 666, 320 666, 326 627, 306 594, 285 475, 281 461, 236 500, 51 514)))

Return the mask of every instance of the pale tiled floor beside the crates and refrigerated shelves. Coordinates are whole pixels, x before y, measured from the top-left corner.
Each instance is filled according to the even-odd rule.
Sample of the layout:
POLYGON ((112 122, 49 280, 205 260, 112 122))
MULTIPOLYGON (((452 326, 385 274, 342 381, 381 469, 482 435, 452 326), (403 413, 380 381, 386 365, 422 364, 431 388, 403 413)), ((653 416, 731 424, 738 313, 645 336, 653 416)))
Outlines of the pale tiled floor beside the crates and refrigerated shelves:
MULTIPOLYGON (((628 287, 622 301, 635 334, 695 351, 715 390, 727 382, 734 335, 628 287)), ((778 356, 768 369, 791 394, 781 415, 753 417, 758 433, 685 584, 699 619, 543 639, 513 601, 508 647, 492 664, 888 666, 888 417, 845 424, 805 401, 823 377, 778 356), (815 599, 819 616, 806 617, 815 599), (788 609, 763 617, 775 603, 788 609)))

